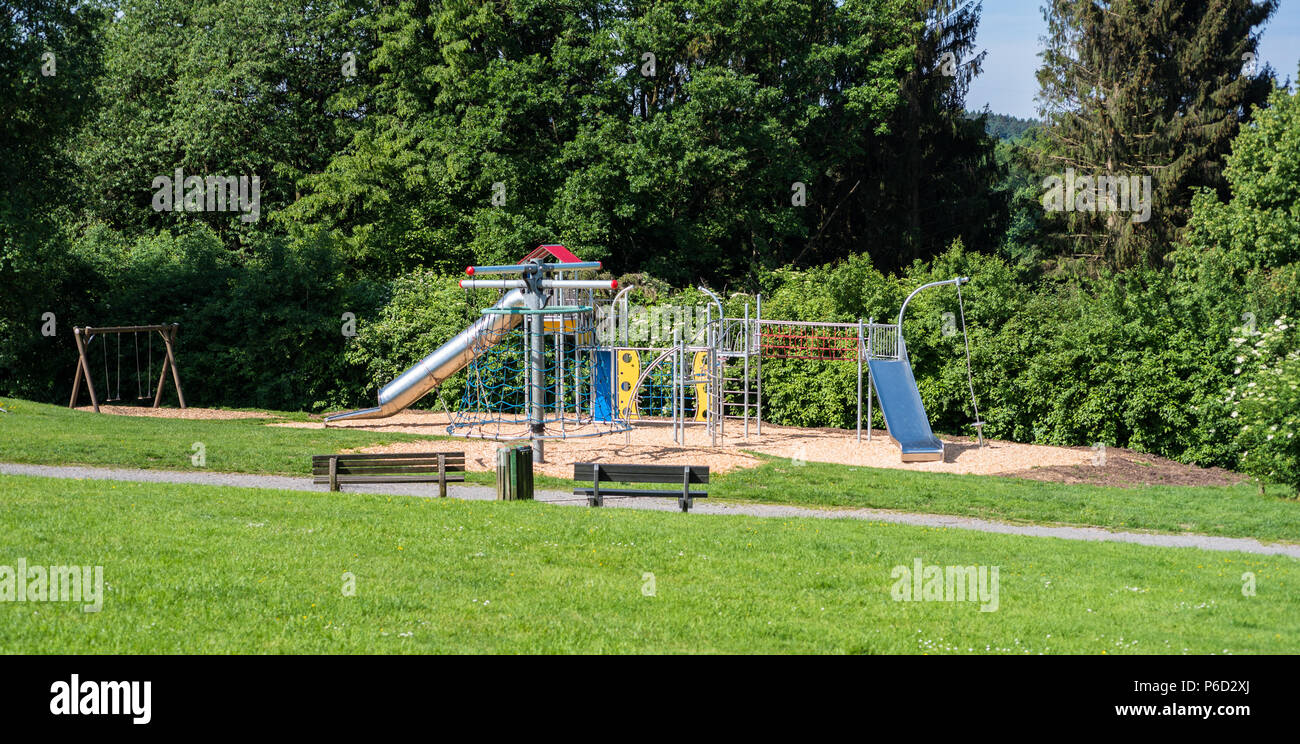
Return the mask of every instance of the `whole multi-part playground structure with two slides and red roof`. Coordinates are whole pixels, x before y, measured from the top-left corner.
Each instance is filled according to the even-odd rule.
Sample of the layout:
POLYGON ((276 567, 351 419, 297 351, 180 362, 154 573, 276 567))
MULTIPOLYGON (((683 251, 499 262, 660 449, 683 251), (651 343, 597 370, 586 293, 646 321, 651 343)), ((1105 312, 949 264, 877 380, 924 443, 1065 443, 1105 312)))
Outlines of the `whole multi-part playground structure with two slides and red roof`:
MULTIPOLYGON (((576 278, 599 268, 563 246, 541 246, 519 264, 468 267, 469 278, 460 286, 497 290, 497 302, 385 385, 378 406, 326 416, 326 424, 391 416, 465 369, 464 394, 456 410, 447 411, 447 433, 526 440, 540 463, 546 440, 607 436, 633 427, 670 427, 677 445, 686 445, 688 428, 702 428, 707 444, 716 446, 727 442, 728 424, 740 429, 742 440, 751 432, 762 436, 764 359, 812 359, 857 365, 857 441, 862 441, 863 402, 871 441, 872 406, 879 399, 904 462, 942 460, 944 445, 931 431, 913 377, 902 320, 907 303, 928 287, 956 285, 961 303, 961 285, 968 278, 918 287, 893 324, 767 319, 762 295, 746 302, 740 317, 727 317, 723 302, 701 289, 708 297, 702 308, 668 308, 667 323, 655 323, 663 333, 646 339, 637 333, 645 325, 644 308, 629 307, 632 286, 607 299, 604 293, 620 289, 616 281, 576 278), (693 311, 701 312, 686 317, 693 311)), ((967 341, 967 372, 968 364, 967 341)), ((983 444, 978 403, 975 418, 983 444)))

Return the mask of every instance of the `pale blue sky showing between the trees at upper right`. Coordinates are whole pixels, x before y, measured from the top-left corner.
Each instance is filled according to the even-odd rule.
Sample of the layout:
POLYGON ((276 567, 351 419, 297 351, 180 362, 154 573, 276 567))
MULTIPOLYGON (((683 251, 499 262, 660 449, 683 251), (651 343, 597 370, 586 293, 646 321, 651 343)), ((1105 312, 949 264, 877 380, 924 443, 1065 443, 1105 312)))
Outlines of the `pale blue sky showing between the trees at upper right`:
MULTIPOLYGON (((971 82, 966 108, 1037 117, 1039 38, 1046 33, 1041 0, 984 0, 976 46, 988 52, 984 73, 971 82)), ((1300 64, 1300 0, 1282 0, 1260 38, 1260 64, 1273 65, 1279 79, 1296 82, 1300 64)))

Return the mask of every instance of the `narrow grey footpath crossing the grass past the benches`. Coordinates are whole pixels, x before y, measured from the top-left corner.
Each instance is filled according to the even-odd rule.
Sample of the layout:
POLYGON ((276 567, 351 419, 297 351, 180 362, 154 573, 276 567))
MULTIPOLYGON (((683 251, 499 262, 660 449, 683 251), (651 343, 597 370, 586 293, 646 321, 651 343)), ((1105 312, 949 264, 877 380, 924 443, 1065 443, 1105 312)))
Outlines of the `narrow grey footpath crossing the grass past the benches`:
MULTIPOLYGON (((234 485, 242 488, 269 488, 280 490, 328 492, 329 486, 316 485, 309 477, 290 477, 280 475, 247 475, 205 471, 165 471, 100 468, 79 466, 30 466, 0 463, 3 475, 35 475, 44 477, 129 480, 142 483, 186 483, 199 485, 234 485)), ((350 485, 350 492, 380 493, 393 496, 429 497, 437 493, 436 484, 370 484, 350 485)), ((451 485, 448 496, 454 498, 486 501, 497 497, 493 488, 485 485, 451 485)), ((586 499, 560 490, 540 490, 537 501, 556 505, 585 506, 586 499)), ((618 509, 649 509, 676 511, 675 498, 607 498, 606 505, 618 509)), ((1028 537, 1058 537, 1062 540, 1086 540, 1092 542, 1136 542, 1160 548, 1196 548, 1200 550, 1230 550, 1256 553, 1260 555, 1290 555, 1300 558, 1300 545, 1268 544, 1249 537, 1210 537, 1206 535, 1149 535, 1144 532, 1112 532, 1098 527, 1044 527, 1036 524, 1009 524, 971 516, 946 516, 941 514, 910 514, 880 509, 807 509, 801 506, 781 506, 768 503, 716 503, 697 501, 692 512, 698 514, 740 514, 748 516, 790 518, 810 516, 816 519, 863 519, 868 522, 888 522, 893 524, 914 524, 920 527, 944 527, 949 529, 974 529, 1000 535, 1023 535, 1028 537)))

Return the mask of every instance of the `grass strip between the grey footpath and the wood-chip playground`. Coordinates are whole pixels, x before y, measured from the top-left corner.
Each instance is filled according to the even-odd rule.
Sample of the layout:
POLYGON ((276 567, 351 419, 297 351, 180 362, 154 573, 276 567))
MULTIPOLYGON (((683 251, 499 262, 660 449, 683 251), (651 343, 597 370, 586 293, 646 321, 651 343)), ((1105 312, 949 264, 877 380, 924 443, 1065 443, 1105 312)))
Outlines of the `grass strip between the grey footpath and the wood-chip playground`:
MULTIPOLYGON (((308 454, 430 438, 266 427, 264 419, 148 419, 101 416, 23 401, 0 405, 14 411, 0 415, 0 462, 16 463, 191 470, 191 445, 204 442, 211 471, 307 475, 308 454)), ((490 477, 471 473, 469 480, 490 483, 490 477)), ((568 490, 572 484, 538 476, 537 486, 568 490)), ((758 468, 716 476, 710 497, 1300 542, 1300 502, 1287 498, 1282 489, 1261 496, 1252 485, 1061 485, 823 463, 797 467, 768 458, 758 468)))

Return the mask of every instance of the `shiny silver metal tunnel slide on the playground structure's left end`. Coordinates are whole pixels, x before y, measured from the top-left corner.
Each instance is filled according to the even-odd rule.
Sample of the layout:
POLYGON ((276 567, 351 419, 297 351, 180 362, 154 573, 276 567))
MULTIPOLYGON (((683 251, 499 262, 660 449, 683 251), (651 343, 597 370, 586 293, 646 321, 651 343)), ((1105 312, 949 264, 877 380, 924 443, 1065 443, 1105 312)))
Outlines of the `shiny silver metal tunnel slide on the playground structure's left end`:
MULTIPOLYGON (((494 307, 525 307, 524 290, 508 291, 494 307)), ((378 406, 325 416, 325 423, 343 419, 385 419, 402 411, 469 364, 477 354, 481 354, 484 351, 481 345, 476 351, 474 341, 477 338, 485 333, 500 338, 502 332, 514 329, 521 320, 523 316, 516 313, 484 315, 473 325, 458 333, 455 338, 421 359, 419 364, 403 372, 400 377, 385 385, 380 390, 378 406)))

